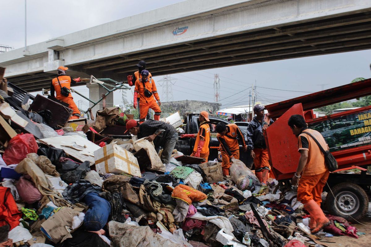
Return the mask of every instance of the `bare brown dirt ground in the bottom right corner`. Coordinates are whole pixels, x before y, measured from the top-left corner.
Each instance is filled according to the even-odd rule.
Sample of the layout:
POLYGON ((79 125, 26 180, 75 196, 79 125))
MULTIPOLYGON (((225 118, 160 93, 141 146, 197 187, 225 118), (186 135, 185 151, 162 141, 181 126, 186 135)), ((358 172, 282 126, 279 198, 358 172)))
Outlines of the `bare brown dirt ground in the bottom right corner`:
POLYGON ((328 247, 370 247, 371 246, 371 205, 368 206, 368 213, 364 217, 363 220, 359 221, 362 224, 352 224, 353 226, 357 227, 357 230, 365 235, 361 235, 358 239, 351 238, 348 236, 339 236, 339 237, 327 237, 323 238, 320 241, 329 241, 335 243, 325 243, 328 247))

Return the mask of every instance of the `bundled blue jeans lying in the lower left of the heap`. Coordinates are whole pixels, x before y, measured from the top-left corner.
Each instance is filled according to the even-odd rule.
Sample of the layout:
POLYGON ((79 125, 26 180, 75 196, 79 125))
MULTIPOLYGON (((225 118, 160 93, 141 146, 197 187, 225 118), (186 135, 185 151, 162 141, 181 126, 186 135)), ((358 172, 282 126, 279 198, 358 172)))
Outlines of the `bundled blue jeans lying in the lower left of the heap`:
POLYGON ((101 230, 107 223, 108 216, 111 213, 111 205, 106 199, 100 197, 95 192, 86 194, 84 202, 89 206, 84 218, 85 230, 101 230))

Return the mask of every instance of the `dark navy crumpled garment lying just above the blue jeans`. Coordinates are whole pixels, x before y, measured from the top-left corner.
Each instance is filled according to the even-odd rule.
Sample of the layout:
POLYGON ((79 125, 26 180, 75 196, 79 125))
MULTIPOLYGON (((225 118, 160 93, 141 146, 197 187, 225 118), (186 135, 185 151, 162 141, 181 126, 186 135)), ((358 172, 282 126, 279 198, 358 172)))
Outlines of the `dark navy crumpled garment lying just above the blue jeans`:
POLYGON ((78 203, 88 193, 100 193, 102 192, 101 187, 92 185, 88 180, 79 180, 73 184, 67 186, 66 190, 63 191, 63 197, 71 203, 78 203))

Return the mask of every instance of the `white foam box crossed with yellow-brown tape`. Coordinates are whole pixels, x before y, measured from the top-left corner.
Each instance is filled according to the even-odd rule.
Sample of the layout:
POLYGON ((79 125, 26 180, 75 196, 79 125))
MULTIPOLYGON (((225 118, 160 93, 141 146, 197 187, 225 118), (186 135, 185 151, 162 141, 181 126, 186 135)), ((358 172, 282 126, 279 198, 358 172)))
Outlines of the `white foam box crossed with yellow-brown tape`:
POLYGON ((100 174, 125 173, 142 177, 137 158, 117 144, 108 144, 95 150, 94 159, 96 171, 100 174))

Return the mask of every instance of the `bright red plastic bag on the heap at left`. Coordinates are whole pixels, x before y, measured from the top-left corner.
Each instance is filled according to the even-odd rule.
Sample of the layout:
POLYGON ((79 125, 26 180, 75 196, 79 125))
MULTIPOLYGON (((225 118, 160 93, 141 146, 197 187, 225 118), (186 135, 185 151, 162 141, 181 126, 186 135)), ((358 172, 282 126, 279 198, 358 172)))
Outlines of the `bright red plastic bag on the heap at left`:
POLYGON ((3 160, 6 164, 18 164, 29 153, 37 153, 37 146, 33 134, 17 134, 14 136, 8 147, 5 149, 3 160))

